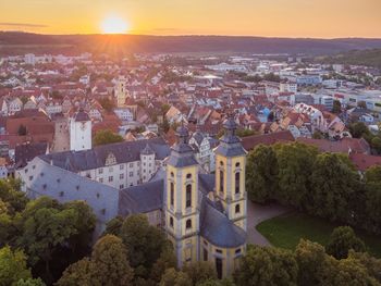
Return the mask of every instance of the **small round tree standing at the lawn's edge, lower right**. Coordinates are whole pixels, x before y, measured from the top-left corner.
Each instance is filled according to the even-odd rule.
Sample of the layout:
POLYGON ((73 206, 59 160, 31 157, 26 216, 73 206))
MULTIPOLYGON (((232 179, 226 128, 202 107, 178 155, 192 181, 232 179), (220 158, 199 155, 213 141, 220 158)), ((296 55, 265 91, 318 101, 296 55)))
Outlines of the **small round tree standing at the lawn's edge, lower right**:
POLYGON ((356 236, 349 226, 334 228, 325 249, 327 253, 336 259, 347 258, 351 249, 356 252, 364 252, 366 250, 364 241, 356 236))

